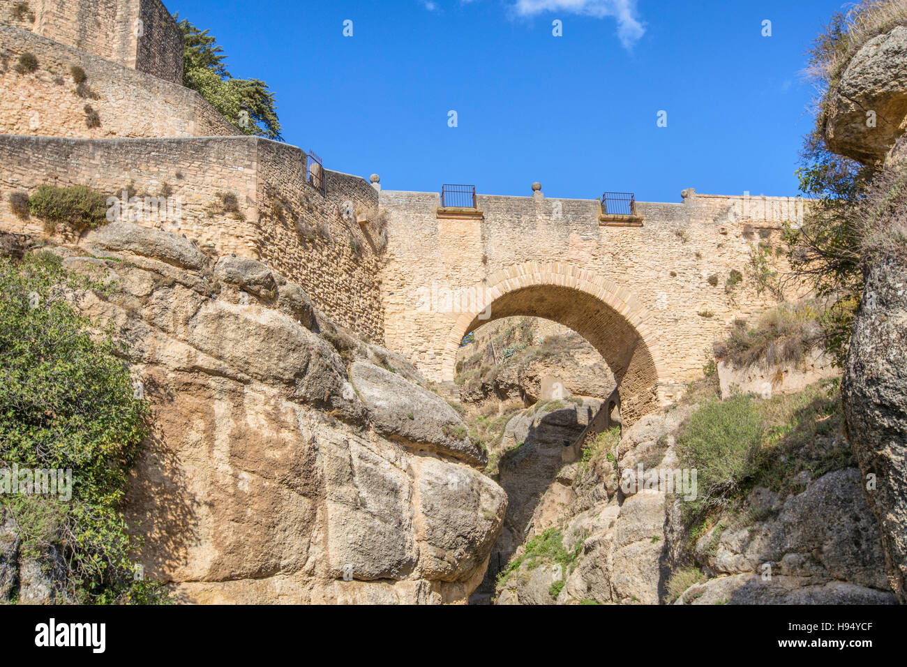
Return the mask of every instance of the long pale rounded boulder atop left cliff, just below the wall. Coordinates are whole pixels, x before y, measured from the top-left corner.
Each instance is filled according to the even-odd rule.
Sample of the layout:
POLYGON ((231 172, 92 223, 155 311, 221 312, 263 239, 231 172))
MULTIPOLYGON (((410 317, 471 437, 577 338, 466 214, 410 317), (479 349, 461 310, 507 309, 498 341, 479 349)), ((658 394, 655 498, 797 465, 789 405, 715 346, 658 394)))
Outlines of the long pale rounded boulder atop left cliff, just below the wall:
POLYGON ((112 222, 91 232, 85 240, 88 247, 122 250, 151 257, 180 267, 200 270, 208 258, 190 240, 165 231, 148 229, 132 222, 112 222))

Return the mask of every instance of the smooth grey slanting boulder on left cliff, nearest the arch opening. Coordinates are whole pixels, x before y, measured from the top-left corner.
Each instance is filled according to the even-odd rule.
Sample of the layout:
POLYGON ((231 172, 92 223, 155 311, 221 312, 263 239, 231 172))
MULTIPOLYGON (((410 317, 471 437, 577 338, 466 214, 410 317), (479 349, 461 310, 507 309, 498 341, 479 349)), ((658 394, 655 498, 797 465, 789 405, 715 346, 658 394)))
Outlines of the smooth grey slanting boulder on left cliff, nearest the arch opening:
POLYGON ((353 364, 350 379, 381 435, 399 438, 416 450, 484 465, 482 449, 466 436, 463 420, 444 398, 365 361, 353 364))

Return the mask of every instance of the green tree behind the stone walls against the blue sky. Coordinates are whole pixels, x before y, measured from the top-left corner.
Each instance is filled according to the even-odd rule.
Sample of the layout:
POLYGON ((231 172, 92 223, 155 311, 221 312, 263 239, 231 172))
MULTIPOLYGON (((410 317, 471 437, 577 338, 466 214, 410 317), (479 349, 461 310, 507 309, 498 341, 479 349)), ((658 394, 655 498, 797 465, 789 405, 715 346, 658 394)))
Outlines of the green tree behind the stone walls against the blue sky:
POLYGON ((244 134, 282 141, 274 93, 259 79, 234 79, 227 56, 208 30, 179 20, 183 34, 182 83, 197 91, 244 134))

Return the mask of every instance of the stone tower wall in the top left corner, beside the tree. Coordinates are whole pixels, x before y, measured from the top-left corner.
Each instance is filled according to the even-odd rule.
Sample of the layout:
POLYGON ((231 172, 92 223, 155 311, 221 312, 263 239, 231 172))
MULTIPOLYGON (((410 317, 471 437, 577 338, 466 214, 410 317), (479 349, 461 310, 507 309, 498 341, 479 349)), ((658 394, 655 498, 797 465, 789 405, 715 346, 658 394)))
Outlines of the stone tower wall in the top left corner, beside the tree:
POLYGON ((182 82, 182 35, 159 0, 0 0, 0 23, 182 82))

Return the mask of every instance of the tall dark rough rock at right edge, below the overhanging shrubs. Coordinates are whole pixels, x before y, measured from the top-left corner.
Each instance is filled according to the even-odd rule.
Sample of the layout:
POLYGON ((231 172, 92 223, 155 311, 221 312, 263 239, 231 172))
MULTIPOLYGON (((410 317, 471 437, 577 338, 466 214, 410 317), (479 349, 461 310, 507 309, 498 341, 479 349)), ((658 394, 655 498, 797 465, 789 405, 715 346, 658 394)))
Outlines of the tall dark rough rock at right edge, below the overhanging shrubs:
POLYGON ((902 603, 907 603, 905 286, 907 267, 900 260, 884 260, 867 271, 842 387, 847 433, 863 472, 866 500, 882 529, 892 587, 902 603))

